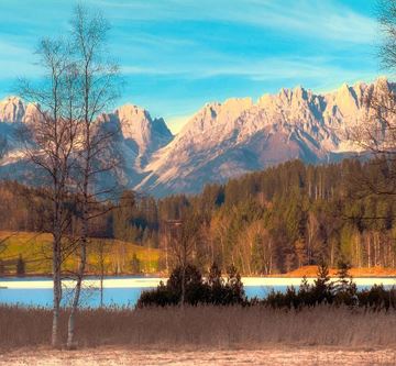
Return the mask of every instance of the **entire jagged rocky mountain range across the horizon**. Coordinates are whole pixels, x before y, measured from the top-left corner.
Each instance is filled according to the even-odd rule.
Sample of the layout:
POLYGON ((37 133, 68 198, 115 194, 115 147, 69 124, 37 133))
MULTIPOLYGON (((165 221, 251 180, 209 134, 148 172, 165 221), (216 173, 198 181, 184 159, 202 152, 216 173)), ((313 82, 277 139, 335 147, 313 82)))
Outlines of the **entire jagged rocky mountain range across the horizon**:
MULTIPOLYGON (((223 182, 289 159, 326 163, 355 152, 349 131, 363 123, 369 113, 364 101, 380 88, 394 89, 395 85, 381 78, 373 84, 344 84, 328 93, 296 87, 256 101, 211 102, 176 136, 163 119, 153 119, 132 104, 98 119, 119 126, 113 148, 123 157, 118 174, 125 187, 157 197, 194 193, 207 182, 223 182)), ((29 121, 33 109, 16 97, 0 102, 0 136, 8 146, 0 168, 3 177, 4 171, 8 178, 12 178, 10 171, 21 175, 15 168, 20 146, 13 131, 29 121)))

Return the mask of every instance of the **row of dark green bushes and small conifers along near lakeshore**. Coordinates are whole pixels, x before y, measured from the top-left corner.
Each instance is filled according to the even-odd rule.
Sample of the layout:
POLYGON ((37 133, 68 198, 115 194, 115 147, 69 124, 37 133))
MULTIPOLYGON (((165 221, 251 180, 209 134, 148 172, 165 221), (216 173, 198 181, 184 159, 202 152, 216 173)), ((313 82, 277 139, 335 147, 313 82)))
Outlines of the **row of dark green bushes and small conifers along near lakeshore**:
MULTIPOLYGON (((260 300, 248 300, 241 276, 235 267, 228 268, 227 277, 222 277, 220 268, 213 264, 206 279, 197 267, 188 265, 185 274, 185 303, 190 306, 265 306, 274 309, 304 309, 323 304, 336 307, 362 307, 372 310, 396 310, 396 288, 389 290, 383 286, 373 286, 371 289, 358 291, 356 285, 349 275, 349 267, 340 265, 339 279, 330 280, 326 264, 318 266, 318 275, 314 285, 309 285, 304 277, 299 289, 288 287, 285 292, 271 291, 260 300)), ((170 274, 166 285, 161 282, 155 290, 144 291, 138 308, 168 307, 180 303, 182 298, 182 267, 170 274)))

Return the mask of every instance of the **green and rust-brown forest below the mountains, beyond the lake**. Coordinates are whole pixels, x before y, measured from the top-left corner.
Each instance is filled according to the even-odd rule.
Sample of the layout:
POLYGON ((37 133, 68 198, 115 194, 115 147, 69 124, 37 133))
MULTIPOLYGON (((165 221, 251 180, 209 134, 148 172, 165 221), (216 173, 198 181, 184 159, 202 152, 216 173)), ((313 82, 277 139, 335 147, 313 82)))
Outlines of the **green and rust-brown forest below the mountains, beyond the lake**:
MULTIPOLYGON (((394 267, 394 169, 384 160, 322 166, 294 160, 208 185, 197 196, 155 200, 124 191, 117 209, 98 215, 90 234, 165 247, 164 223, 182 220, 195 237, 188 262, 201 270, 215 262, 244 275, 284 273, 321 260, 331 267, 339 260, 394 267)), ((7 181, 0 197, 0 229, 45 231, 51 204, 45 191, 7 181)), ((77 228, 78 217, 70 231, 77 228)))

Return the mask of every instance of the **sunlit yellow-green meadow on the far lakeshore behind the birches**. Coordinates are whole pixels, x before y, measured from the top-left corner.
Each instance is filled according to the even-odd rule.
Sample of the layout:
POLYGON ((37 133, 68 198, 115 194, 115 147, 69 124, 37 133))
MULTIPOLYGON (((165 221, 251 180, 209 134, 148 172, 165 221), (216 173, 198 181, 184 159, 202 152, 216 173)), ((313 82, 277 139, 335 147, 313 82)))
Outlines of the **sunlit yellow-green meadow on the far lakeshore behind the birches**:
MULTIPOLYGON (((26 275, 46 275, 52 271, 52 236, 46 233, 0 232, 0 259, 7 275, 16 273, 16 260, 21 256, 25 263, 26 275)), ((130 274, 131 260, 136 255, 142 273, 157 273, 161 251, 146 248, 117 240, 91 239, 88 246, 88 271, 99 271, 100 256, 98 249, 103 248, 103 265, 108 275, 130 274)), ((77 268, 78 258, 68 256, 64 269, 77 268)))

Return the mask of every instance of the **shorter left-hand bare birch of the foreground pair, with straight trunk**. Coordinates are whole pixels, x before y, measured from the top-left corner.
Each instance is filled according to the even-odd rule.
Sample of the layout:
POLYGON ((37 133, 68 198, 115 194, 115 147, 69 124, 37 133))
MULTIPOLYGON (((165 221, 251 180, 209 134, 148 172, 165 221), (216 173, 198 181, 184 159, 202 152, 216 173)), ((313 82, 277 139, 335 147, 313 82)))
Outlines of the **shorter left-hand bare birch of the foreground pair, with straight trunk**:
POLYGON ((52 201, 51 224, 53 235, 53 329, 52 344, 59 344, 58 323, 62 299, 61 267, 63 240, 70 224, 68 201, 72 190, 73 154, 77 142, 79 110, 77 108, 78 77, 69 58, 69 45, 62 40, 45 38, 37 48, 40 65, 45 71, 40 85, 19 81, 19 93, 35 107, 31 121, 20 129, 25 156, 38 169, 35 179, 47 190, 52 201))

